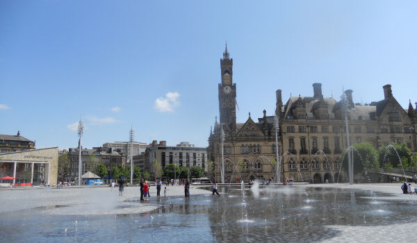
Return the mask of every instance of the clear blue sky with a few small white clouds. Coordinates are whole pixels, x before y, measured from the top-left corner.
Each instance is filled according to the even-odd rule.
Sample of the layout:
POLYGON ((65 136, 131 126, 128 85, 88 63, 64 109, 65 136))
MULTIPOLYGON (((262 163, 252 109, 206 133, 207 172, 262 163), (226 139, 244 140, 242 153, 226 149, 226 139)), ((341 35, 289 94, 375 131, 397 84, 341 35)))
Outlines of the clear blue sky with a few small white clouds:
POLYGON ((416 1, 0 1, 0 134, 37 148, 129 140, 207 146, 220 58, 234 58, 238 122, 275 90, 354 102, 391 84, 416 102, 416 1))

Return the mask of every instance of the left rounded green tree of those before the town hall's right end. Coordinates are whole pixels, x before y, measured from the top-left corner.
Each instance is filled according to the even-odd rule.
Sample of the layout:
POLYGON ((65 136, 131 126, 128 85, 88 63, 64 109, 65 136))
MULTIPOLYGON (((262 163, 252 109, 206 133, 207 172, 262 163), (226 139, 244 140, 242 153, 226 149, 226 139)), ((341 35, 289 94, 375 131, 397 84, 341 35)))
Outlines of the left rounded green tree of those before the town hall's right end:
MULTIPOLYGON (((353 149, 353 173, 359 174, 365 171, 378 171, 379 162, 378 162, 378 153, 369 142, 361 142, 359 144, 354 144, 353 149)), ((347 171, 347 154, 343 158, 343 167, 347 171)))

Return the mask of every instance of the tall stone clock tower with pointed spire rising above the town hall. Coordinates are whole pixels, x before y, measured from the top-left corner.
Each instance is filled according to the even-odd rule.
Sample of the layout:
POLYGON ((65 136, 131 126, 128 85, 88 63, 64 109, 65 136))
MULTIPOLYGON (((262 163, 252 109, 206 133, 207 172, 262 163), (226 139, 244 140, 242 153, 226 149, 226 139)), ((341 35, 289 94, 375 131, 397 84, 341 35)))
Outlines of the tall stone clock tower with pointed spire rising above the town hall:
POLYGON ((233 58, 226 49, 220 59, 222 83, 219 83, 220 124, 226 124, 231 131, 236 130, 236 83, 233 83, 233 58))

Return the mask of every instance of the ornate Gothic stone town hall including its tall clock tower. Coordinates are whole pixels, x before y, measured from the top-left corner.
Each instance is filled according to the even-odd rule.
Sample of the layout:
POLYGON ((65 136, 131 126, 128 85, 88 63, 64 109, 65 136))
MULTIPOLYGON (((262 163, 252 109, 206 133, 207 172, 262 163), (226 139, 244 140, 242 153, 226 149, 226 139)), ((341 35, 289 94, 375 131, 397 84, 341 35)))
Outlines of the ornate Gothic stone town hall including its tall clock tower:
POLYGON ((365 106, 353 102, 352 90, 345 91, 345 106, 343 101, 323 97, 321 83, 313 83, 313 97, 290 97, 285 104, 281 90, 277 90, 275 114, 267 116, 263 110, 263 117, 257 121, 249 115, 244 123, 236 123, 236 83, 233 81, 233 59, 229 58, 227 47, 220 59, 220 72, 220 123, 216 119, 214 131, 208 137, 208 159, 215 163, 215 180, 218 182, 222 171, 221 128, 225 134, 226 182, 275 178, 275 115, 279 117, 281 181, 290 176, 295 181, 314 183, 332 182, 333 178, 345 181, 347 173, 338 174, 347 147, 345 106, 348 108, 350 145, 370 142, 377 149, 398 142, 417 151, 417 108, 415 110, 410 101, 409 108, 404 110, 393 97, 391 85, 384 85, 384 99, 365 106))

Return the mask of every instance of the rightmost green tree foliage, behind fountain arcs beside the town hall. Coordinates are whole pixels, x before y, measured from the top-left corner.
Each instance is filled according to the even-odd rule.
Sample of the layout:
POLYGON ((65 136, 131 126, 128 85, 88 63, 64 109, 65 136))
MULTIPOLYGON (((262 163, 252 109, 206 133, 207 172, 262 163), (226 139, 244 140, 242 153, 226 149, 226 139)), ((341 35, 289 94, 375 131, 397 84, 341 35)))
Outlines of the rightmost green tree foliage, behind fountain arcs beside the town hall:
POLYGON ((411 150, 405 144, 396 144, 392 143, 394 146, 382 146, 378 150, 378 161, 379 165, 387 169, 387 167, 401 167, 404 166, 404 169, 409 167, 409 162, 411 162, 411 150), (395 150, 398 152, 395 152, 395 150), (400 158, 398 158, 400 157, 400 158), (401 162, 400 162, 401 159, 401 162))

